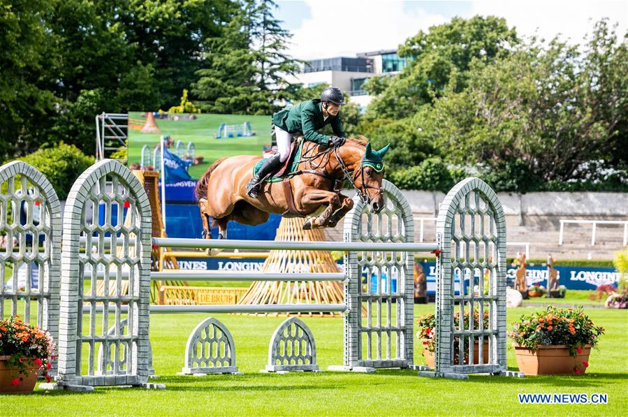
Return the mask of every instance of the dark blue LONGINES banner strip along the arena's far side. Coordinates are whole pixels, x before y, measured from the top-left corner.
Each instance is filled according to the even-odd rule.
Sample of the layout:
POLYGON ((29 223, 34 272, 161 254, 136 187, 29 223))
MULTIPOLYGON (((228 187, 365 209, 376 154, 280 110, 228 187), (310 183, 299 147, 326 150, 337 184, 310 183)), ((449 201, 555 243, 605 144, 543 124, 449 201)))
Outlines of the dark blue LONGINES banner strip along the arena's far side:
MULTIPOLYGON (((257 271, 261 269, 264 258, 177 258, 179 268, 183 270, 220 270, 220 271, 257 271)), ((425 271, 425 277, 428 281, 428 293, 433 294, 436 291, 436 263, 421 263, 425 271)), ((615 284, 620 279, 620 273, 613 268, 578 268, 568 266, 555 267, 558 272, 558 282, 567 289, 574 290, 594 290, 601 284, 615 284)), ((508 284, 512 286, 515 281, 516 267, 506 268, 506 279, 508 284)), ((366 274, 365 274, 366 275, 366 274)), ((393 272, 391 288, 395 291, 397 288, 397 274, 393 272)), ((465 281, 469 281, 469 273, 465 276, 465 281)), ((544 266, 528 266, 526 268, 527 284, 547 285, 548 270, 544 266)), ((386 281, 386 277, 382 276, 382 281, 386 281)), ((455 277, 458 281, 459 277, 455 277)), ((480 279, 479 271, 474 276, 474 284, 480 279)), ((381 288, 386 288, 383 283, 381 288)))

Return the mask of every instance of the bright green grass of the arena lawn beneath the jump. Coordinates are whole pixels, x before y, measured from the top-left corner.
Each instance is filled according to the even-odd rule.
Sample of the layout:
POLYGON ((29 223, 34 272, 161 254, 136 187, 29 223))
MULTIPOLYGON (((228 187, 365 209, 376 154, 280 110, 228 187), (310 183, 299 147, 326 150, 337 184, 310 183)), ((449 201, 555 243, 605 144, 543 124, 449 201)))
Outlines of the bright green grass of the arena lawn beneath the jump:
MULTIPOLYGON (((433 305, 415 306, 415 315, 432 312, 433 305)), ((508 310, 512 323, 530 308, 508 310)), ((583 376, 527 376, 511 379, 471 376, 467 381, 430 379, 409 370, 380 370, 376 374, 323 372, 287 375, 259 374, 266 363, 272 332, 284 319, 216 315, 233 337, 241 376, 177 376, 185 341, 205 314, 152 315, 151 341, 155 382, 166 390, 96 388, 96 393, 41 390, 27 396, 0 395, 3 415, 444 415, 444 414, 624 414, 628 401, 625 355, 628 312, 587 309, 606 335, 592 351, 583 376), (518 393, 607 393, 608 404, 520 405, 518 393)), ((342 363, 342 320, 305 318, 316 337, 321 369, 342 363)), ((510 324, 509 324, 510 325, 510 324)), ((509 343, 510 345, 510 343, 509 343)), ((415 344, 415 363, 423 357, 415 344)), ((508 365, 516 370, 513 349, 508 365)))

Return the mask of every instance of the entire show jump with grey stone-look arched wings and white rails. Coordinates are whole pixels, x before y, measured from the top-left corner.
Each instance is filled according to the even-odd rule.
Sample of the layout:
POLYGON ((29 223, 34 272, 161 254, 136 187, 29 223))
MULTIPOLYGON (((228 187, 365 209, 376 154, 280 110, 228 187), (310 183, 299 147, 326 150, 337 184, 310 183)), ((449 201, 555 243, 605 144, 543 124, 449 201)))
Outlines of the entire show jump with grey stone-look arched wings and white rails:
MULTIPOLYGON (((58 341, 57 388, 93 390, 94 386, 105 385, 161 388, 149 383, 151 312, 339 311, 344 314, 344 363, 331 369, 372 372, 378 368, 414 367, 412 254, 417 251, 436 252, 438 276, 435 368, 422 369, 419 374, 453 378, 465 378, 472 373, 514 374, 506 368, 504 212, 495 192, 477 178, 463 180, 447 194, 439 210, 437 242, 432 244, 414 243, 409 204, 387 181, 383 182, 386 207, 379 214, 368 212, 365 203, 358 198, 354 200, 353 210, 344 221, 344 242, 152 237, 152 212, 144 187, 131 171, 110 159, 99 161, 80 175, 68 194, 63 217, 50 182, 27 163, 14 161, 0 167, 0 186, 0 233, 9 237, 6 250, 0 251, 0 260, 12 270, 11 288, 0 286, 0 314, 4 316, 5 300, 10 301, 11 314, 17 314, 19 301, 24 303, 24 318, 29 320, 31 301, 36 301, 37 324, 50 331, 58 341), (41 207, 39 221, 34 221, 32 214, 22 221, 19 210, 13 210, 23 204, 27 213, 32 213, 36 203, 41 207), (105 210, 104 224, 97 220, 101 204, 105 210), (111 216, 113 207, 119 213, 124 212, 124 216, 118 216, 115 222, 111 216), (29 235, 30 240, 27 239, 29 235), (34 236, 41 239, 33 239, 34 236), (13 237, 17 238, 15 244, 13 237), (150 270, 152 248, 159 246, 344 251, 344 303, 149 305, 150 282, 166 279, 168 274, 150 270), (118 247, 121 250, 111 250, 118 247), (39 285, 34 288, 27 279, 24 288, 18 288, 18 268, 22 264, 27 265, 27 269, 32 268, 34 263, 39 266, 39 285), (98 275, 98 265, 104 267, 102 278, 98 275), (366 282, 362 278, 363 267, 368 271, 366 282), (396 292, 391 289, 390 273, 386 285, 381 285, 378 272, 381 273, 384 267, 388 271, 394 268, 398 271, 396 292), (480 291, 474 293, 472 283, 467 285, 462 279, 467 275, 473 277, 475 270, 488 270, 487 295, 484 295, 482 280, 479 281, 480 291), (455 276, 459 278, 457 281, 455 276), (83 292, 85 279, 89 279, 90 286, 83 292), (105 288, 109 288, 110 281, 115 281, 117 291, 96 295, 96 284, 100 279, 105 288), (124 279, 129 285, 127 295, 122 295, 119 290, 124 279), (373 279, 377 281, 374 285, 373 279), (362 307, 367 309, 364 318, 360 314, 362 307), (454 310, 462 314, 476 308, 480 315, 488 313, 488 328, 473 328, 473 321, 470 328, 454 327, 454 310), (122 332, 120 329, 125 319, 126 332, 122 332), (84 321, 89 325, 84 327, 84 321), (489 342, 488 363, 483 363, 484 338, 489 342), (458 344, 459 358, 474 358, 474 342, 479 342, 479 363, 454 365, 454 340, 458 344), (98 355, 98 351, 102 354, 98 355)), ((5 274, 4 270, 0 271, 2 282, 6 281, 5 274)), ((181 279, 177 274, 180 272, 170 278, 181 279)), ((198 279, 217 277, 217 272, 211 271, 195 274, 198 279)), ((291 279, 326 281, 331 278, 328 273, 321 272, 300 274, 292 274, 291 279)), ((251 280, 279 278, 265 272, 247 272, 245 275, 251 280)), ((341 276, 336 277, 341 280, 341 276)), ((288 319, 275 332, 270 344, 271 363, 266 370, 289 370, 279 367, 286 365, 286 356, 289 357, 287 364, 312 365, 315 356, 309 353, 314 353, 314 338, 305 330, 305 323, 297 320, 288 319), (302 351, 297 346, 302 346, 304 341, 309 347, 302 351), (277 353, 277 344, 284 346, 283 353, 277 353)), ((226 346, 229 342, 233 342, 233 338, 224 325, 204 321, 190 335, 187 362, 182 371, 212 372, 204 368, 213 368, 222 360, 220 366, 233 372, 233 344, 229 346, 234 349, 222 349, 219 353, 215 349, 207 351, 203 348, 213 343, 226 346)))

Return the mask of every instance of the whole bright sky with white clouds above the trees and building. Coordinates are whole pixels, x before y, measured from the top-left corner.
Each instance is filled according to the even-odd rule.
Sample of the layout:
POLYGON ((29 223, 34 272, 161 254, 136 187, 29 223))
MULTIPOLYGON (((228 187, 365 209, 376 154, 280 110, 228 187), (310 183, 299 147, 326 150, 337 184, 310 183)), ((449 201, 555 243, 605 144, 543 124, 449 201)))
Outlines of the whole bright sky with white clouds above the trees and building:
POLYGON ((355 57, 358 52, 396 49, 419 30, 428 30, 451 17, 496 15, 506 18, 520 36, 581 43, 602 17, 628 28, 628 0, 275 0, 275 17, 291 39, 290 53, 298 59, 355 57), (325 30, 329 29, 329 30, 325 30))

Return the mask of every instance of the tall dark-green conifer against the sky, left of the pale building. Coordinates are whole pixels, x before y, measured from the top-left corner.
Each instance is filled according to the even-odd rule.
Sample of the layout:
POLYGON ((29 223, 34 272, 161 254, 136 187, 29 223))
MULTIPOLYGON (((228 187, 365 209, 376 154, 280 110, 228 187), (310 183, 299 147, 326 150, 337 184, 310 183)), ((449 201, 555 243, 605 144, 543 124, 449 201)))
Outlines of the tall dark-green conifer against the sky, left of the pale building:
POLYGON ((298 66, 284 53, 290 35, 272 16, 271 0, 242 0, 219 36, 206 41, 207 53, 192 94, 208 112, 270 114, 284 96, 282 78, 298 66))

